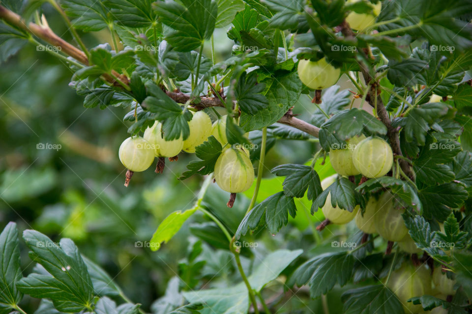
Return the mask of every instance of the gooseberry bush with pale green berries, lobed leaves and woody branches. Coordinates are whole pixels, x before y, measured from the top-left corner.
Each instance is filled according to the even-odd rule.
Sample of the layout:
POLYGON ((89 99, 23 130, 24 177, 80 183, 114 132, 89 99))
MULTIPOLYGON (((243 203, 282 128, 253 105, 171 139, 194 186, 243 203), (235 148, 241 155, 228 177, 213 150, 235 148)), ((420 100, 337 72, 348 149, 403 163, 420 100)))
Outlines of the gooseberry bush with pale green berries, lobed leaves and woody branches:
MULTIPOLYGON (((128 189, 193 156, 172 175, 201 180, 195 203, 155 226, 150 250, 197 212, 206 225, 152 313, 321 313, 288 308, 287 293, 325 314, 472 313, 471 12, 471 0, 0 0, 0 61, 36 45, 68 66, 85 107, 128 110, 116 148, 128 189), (72 41, 49 26, 51 6, 72 41), (224 56, 217 29, 234 44, 224 56), (89 32, 108 42, 88 47, 89 32), (270 160, 286 140, 312 158, 270 160), (213 184, 227 204, 207 204, 213 184), (264 253, 244 245, 278 234, 264 253), (234 272, 208 280, 202 242, 234 272)), ((0 235, 0 314, 25 314, 25 295, 36 314, 145 313, 68 238, 25 230, 37 265, 24 277, 18 233, 0 235)))

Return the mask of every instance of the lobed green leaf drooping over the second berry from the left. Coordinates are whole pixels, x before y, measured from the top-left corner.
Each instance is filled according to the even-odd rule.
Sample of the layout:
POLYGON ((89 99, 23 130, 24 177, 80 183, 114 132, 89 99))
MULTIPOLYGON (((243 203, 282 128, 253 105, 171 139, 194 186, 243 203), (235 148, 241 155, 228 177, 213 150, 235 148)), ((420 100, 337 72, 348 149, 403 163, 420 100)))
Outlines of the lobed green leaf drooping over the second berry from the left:
POLYGON ((182 110, 173 99, 159 88, 154 82, 146 82, 148 96, 141 106, 154 113, 155 119, 162 123, 162 131, 166 140, 179 137, 186 139, 190 134, 188 121, 192 120, 192 114, 188 110, 182 110))

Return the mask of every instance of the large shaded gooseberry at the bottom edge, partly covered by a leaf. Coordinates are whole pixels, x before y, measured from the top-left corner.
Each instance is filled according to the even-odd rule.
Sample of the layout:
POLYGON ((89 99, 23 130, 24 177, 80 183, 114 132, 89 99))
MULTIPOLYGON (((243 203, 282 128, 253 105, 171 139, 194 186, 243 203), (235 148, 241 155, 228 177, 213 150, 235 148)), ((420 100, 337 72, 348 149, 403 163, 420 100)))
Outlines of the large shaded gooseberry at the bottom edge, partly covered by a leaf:
POLYGON ((386 286, 397 295, 405 313, 424 313, 420 304, 414 305, 408 300, 432 294, 430 270, 424 264, 415 267, 410 261, 406 261, 391 273, 386 286))

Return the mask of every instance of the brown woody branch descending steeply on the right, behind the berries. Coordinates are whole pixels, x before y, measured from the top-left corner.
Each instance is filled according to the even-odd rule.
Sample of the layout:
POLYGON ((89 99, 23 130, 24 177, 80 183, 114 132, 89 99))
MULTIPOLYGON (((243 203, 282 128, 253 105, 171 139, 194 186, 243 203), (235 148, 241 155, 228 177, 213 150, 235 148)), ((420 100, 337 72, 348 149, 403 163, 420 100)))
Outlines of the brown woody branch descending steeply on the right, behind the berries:
MULTIPOLYGON (((341 32, 344 35, 344 37, 347 37, 347 38, 355 37, 353 30, 349 26, 348 22, 346 22, 346 20, 344 20, 343 23, 341 23, 340 27, 341 27, 341 32)), ((367 48, 365 49, 364 52, 367 54, 367 57, 369 57, 370 49, 367 48)), ((362 61, 357 61, 357 63, 359 64, 360 72, 362 73, 365 83, 371 84, 368 95, 366 95, 366 101, 372 107, 377 106, 377 115, 379 116, 379 119, 387 128, 387 137, 390 141, 390 145, 392 147, 393 153, 398 156, 403 156, 402 150, 400 148, 400 137, 398 134, 398 130, 392 126, 392 122, 390 118, 388 117, 388 112, 385 108, 385 105, 383 105, 383 101, 382 101, 382 98, 380 97, 380 94, 378 93, 379 83, 375 80, 374 77, 372 77, 372 75, 369 72, 368 67, 362 61), (376 104, 376 99, 377 99, 377 104, 376 104)), ((403 158, 400 159, 400 166, 402 167, 402 170, 405 172, 405 174, 409 176, 411 179, 413 179, 413 172, 410 168, 410 165, 403 158)))

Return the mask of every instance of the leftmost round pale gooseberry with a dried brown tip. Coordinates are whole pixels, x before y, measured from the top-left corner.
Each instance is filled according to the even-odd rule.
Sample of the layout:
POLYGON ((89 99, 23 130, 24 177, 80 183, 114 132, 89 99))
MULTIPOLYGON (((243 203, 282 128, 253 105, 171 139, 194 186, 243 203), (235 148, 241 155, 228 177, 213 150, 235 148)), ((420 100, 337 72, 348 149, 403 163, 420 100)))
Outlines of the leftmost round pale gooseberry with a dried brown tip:
POLYGON ((148 169, 154 161, 154 150, 141 136, 128 137, 119 146, 118 157, 128 170, 140 172, 148 169))

